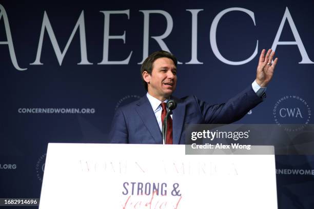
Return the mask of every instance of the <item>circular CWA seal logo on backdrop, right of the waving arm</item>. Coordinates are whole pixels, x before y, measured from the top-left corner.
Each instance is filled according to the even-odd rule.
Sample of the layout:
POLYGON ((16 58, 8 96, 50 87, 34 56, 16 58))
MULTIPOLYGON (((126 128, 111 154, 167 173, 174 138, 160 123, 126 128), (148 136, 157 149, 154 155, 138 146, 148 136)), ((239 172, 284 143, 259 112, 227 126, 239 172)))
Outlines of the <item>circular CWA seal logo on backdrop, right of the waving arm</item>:
POLYGON ((293 126, 293 128, 291 128, 292 126, 285 128, 286 131, 300 131, 309 123, 311 109, 303 98, 289 95, 280 98, 276 102, 272 114, 276 124, 281 127, 283 124, 299 124, 293 126))

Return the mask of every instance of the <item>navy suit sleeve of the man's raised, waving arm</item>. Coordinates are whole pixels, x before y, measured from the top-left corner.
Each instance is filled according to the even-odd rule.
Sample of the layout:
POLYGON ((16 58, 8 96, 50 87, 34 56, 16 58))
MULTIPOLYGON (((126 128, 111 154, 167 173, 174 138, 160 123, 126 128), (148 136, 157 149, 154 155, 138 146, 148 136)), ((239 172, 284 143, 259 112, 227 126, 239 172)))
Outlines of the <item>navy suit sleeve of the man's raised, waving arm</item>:
POLYGON ((251 86, 243 92, 229 99, 226 103, 208 105, 208 103, 196 99, 204 123, 228 124, 240 120, 249 110, 263 101, 251 86))

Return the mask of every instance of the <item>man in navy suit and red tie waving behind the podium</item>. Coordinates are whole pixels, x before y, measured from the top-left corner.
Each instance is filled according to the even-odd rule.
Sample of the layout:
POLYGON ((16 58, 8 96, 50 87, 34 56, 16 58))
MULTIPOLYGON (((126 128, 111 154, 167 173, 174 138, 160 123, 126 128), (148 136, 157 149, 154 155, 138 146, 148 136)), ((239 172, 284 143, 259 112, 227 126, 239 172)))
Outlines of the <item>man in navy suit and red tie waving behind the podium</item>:
MULTIPOLYGON (((176 87, 177 59, 169 52, 158 51, 149 55, 141 67, 147 94, 138 101, 119 108, 113 117, 109 138, 111 143, 161 144, 162 102, 174 99, 178 106, 171 115, 171 142, 184 144, 184 124, 232 123, 256 107, 265 97, 265 89, 272 78, 278 58, 274 52, 263 50, 259 59, 256 80, 237 96, 220 105, 209 105, 195 96, 181 99, 172 96, 176 87)), ((169 122, 169 121, 168 121, 169 122)), ((168 124, 167 122, 167 124, 168 124)), ((169 129, 169 127, 168 127, 169 129)), ((167 133, 168 134, 168 133, 167 133)), ((168 136, 167 136, 168 137, 168 136)))

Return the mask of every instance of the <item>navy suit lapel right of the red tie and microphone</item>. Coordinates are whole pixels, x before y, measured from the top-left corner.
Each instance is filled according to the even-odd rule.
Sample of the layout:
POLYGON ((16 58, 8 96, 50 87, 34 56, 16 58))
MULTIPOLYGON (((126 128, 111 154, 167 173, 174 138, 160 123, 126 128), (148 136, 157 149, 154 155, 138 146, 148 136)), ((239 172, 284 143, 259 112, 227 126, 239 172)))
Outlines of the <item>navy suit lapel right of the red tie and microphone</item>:
POLYGON ((178 106, 173 110, 172 113, 173 144, 179 144, 185 116, 185 105, 183 102, 180 101, 180 99, 178 98, 173 99, 178 103, 178 106))

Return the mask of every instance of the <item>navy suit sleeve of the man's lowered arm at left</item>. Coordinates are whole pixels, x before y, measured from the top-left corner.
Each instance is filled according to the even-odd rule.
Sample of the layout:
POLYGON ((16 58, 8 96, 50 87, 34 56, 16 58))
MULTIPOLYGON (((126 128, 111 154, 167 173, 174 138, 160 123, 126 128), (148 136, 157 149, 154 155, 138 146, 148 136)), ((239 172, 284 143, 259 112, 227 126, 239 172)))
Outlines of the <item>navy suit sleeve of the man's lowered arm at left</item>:
POLYGON ((128 128, 125 115, 121 109, 118 109, 112 119, 109 132, 110 143, 128 143, 128 128))

